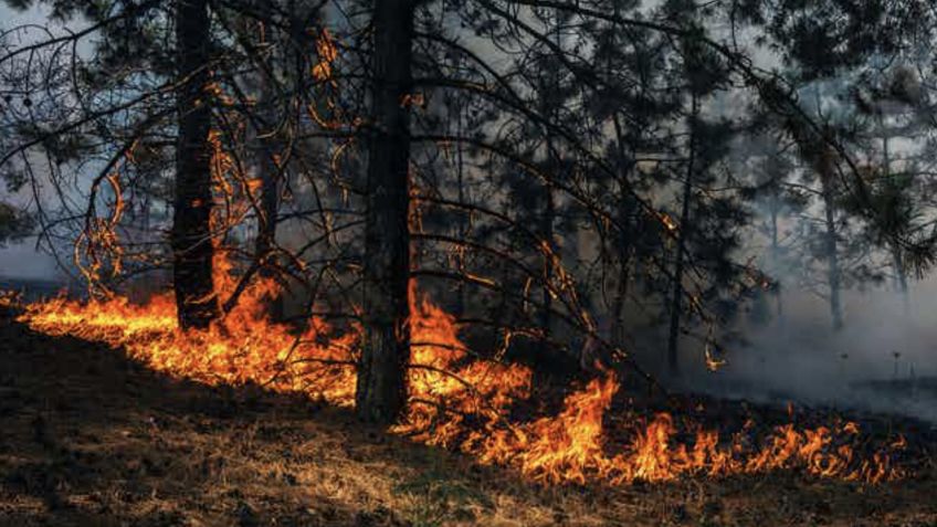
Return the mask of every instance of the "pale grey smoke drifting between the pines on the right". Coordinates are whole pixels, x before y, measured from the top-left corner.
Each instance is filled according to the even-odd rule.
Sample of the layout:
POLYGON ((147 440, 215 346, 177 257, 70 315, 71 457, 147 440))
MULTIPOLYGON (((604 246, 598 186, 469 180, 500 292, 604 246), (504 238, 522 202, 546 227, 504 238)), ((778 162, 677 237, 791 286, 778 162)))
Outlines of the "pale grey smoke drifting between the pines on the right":
MULTIPOLYGON (((896 72, 893 84, 899 83, 906 91, 915 88, 906 72, 901 68, 896 72)), ((824 97, 824 102, 829 101, 830 97, 824 97)), ((862 162, 876 166, 886 162, 886 149, 891 149, 887 170, 893 172, 914 170, 908 161, 901 159, 914 159, 922 148, 918 138, 893 135, 887 146, 878 139, 855 155, 862 162)), ((764 145, 749 137, 741 138, 734 149, 740 159, 749 156, 758 159, 766 154, 764 145)), ((754 169, 757 173, 762 167, 748 165, 741 169, 754 169)), ((819 186, 809 181, 806 185, 819 186)), ((775 211, 780 222, 780 255, 772 254, 770 241, 766 240, 770 235, 766 232, 754 233, 746 240, 741 252, 760 260, 759 266, 780 287, 752 306, 756 312, 752 315, 757 316, 741 317, 725 331, 741 335, 744 341, 729 341, 724 357, 727 365, 709 372, 702 357, 703 345, 685 339, 682 346, 688 371, 678 382, 673 382, 674 387, 759 402, 799 401, 937 422, 937 329, 933 315, 937 313, 937 277, 931 273, 923 280, 909 278, 908 292, 903 294, 888 276, 894 274, 894 267, 887 249, 870 247, 867 241, 853 240, 861 236, 861 226, 854 221, 840 222, 839 218, 845 213, 838 210, 836 235, 843 275, 864 268, 881 272, 885 280, 862 280, 862 272, 855 273, 853 280, 845 280, 841 289, 845 325, 834 330, 829 299, 821 296, 829 293, 825 255, 821 254, 825 251, 814 243, 825 235, 823 203, 817 192, 808 196, 811 194, 804 209, 783 210, 782 205, 782 210, 775 211)), ((770 224, 767 200, 751 207, 755 224, 770 224)))

